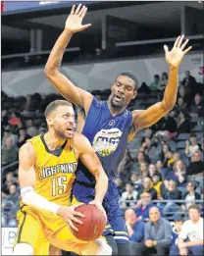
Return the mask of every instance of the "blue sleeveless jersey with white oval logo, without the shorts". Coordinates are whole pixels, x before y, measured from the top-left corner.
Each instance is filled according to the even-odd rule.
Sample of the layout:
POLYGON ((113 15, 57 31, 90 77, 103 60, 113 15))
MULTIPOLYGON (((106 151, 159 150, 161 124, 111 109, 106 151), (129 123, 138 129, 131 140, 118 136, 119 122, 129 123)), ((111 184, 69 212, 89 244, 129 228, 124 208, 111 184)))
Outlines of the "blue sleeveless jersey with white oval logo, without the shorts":
MULTIPOLYGON (((114 179, 124 157, 131 120, 132 114, 127 109, 113 117, 107 101, 97 101, 93 98, 81 133, 90 141, 110 180, 114 179)), ((95 184, 94 177, 80 161, 74 185, 76 197, 78 197, 77 183, 86 187, 93 187, 95 184)))

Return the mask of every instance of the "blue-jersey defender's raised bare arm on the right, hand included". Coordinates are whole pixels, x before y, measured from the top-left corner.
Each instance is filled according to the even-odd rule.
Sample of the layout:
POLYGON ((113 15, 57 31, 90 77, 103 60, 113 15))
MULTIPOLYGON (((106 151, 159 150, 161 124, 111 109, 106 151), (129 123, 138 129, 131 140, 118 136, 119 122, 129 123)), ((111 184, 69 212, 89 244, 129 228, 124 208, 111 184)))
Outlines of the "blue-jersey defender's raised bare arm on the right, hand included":
POLYGON ((133 111, 132 128, 130 138, 140 128, 146 128, 157 123, 162 117, 170 112, 176 103, 178 93, 178 66, 181 63, 183 56, 191 49, 191 46, 184 50, 188 39, 183 44, 184 35, 178 36, 172 51, 169 52, 165 45, 166 61, 170 65, 169 81, 165 90, 164 98, 161 102, 154 104, 144 111, 133 111))

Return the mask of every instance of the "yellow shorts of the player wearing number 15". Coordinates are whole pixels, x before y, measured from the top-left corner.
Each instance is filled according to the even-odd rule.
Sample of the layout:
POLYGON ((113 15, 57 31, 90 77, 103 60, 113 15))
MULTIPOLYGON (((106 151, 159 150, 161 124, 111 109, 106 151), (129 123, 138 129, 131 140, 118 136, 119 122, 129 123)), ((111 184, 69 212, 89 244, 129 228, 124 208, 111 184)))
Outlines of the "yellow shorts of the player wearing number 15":
POLYGON ((101 243, 96 240, 84 242, 78 240, 64 220, 54 214, 23 206, 17 215, 17 243, 30 244, 34 255, 49 255, 49 245, 77 254, 94 255, 101 243))

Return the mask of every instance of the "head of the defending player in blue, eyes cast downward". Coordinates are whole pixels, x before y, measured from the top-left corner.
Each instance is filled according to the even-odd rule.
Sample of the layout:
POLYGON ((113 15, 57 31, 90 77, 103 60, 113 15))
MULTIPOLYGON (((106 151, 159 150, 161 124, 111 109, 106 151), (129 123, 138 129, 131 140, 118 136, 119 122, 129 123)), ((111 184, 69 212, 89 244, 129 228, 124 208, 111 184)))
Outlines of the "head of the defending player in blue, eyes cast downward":
POLYGON ((130 72, 122 72, 112 85, 110 103, 112 107, 122 109, 128 106, 137 94, 138 81, 130 72))

